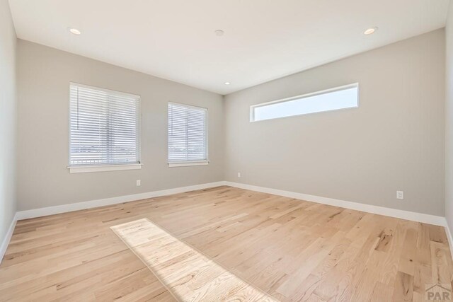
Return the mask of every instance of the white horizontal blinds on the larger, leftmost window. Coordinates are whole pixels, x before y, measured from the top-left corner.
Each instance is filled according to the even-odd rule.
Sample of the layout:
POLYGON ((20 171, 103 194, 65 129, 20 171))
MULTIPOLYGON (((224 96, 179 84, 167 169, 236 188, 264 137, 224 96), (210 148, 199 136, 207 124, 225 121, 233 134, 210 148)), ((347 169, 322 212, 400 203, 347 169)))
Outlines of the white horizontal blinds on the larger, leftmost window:
POLYGON ((70 84, 69 165, 139 163, 138 95, 70 84))

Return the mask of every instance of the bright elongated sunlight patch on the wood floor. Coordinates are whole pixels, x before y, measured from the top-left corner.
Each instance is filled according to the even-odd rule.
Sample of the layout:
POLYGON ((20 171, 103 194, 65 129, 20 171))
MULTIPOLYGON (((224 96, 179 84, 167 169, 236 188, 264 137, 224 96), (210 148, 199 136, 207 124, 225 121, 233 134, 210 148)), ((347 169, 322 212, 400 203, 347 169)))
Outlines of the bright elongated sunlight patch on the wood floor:
POLYGON ((148 219, 111 228, 180 301, 277 301, 148 219))

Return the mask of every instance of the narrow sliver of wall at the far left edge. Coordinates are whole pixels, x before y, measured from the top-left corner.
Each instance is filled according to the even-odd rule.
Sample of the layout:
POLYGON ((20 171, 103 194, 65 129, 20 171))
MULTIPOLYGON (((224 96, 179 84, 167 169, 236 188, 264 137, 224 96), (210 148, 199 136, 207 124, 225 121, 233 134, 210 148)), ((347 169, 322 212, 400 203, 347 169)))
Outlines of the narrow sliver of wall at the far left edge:
POLYGON ((16 213, 15 151, 16 31, 8 0, 0 0, 0 244, 16 213))

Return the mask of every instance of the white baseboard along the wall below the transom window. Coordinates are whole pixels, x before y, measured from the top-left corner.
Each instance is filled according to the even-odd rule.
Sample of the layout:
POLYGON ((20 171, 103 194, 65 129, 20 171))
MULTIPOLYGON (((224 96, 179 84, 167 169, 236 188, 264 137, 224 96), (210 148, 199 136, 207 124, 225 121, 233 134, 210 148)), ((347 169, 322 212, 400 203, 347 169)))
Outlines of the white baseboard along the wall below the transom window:
POLYGON ((446 224, 447 224, 445 217, 442 217, 442 216, 435 216, 435 215, 430 215, 430 214, 416 213, 413 211, 404 211, 404 210, 399 210, 399 209, 379 207, 379 206, 374 206, 372 204, 361 204, 359 202, 346 202, 345 200, 340 200, 340 199, 320 197, 320 196, 297 193, 297 192, 289 192, 289 191, 284 191, 284 190, 271 189, 268 187, 258 187, 256 185, 246 185, 246 184, 239 183, 239 182, 226 181, 225 185, 229 185, 231 187, 239 187, 239 188, 245 189, 245 190, 252 190, 252 191, 263 192, 263 193, 268 193, 268 194, 275 194, 275 195, 280 195, 280 196, 295 198, 295 199, 302 199, 302 200, 306 200, 309 202, 316 202, 319 204, 328 204, 331 206, 342 207, 345 209, 353 209, 356 211, 365 211, 367 213, 390 216, 390 217, 395 217, 395 218, 399 218, 399 219, 406 219, 406 220, 411 220, 411 221, 430 223, 430 224, 434 224, 436 226, 446 226, 446 224))

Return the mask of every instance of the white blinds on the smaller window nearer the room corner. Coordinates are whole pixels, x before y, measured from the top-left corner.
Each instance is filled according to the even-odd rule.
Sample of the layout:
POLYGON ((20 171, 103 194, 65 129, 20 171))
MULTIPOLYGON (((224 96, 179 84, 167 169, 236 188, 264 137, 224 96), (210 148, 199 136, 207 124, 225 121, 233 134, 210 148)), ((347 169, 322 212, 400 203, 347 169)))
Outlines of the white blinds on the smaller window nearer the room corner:
POLYGON ((207 109, 168 103, 168 163, 207 161, 207 109))

